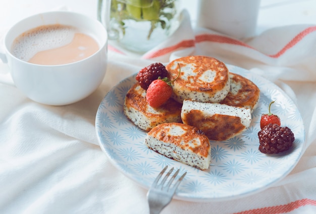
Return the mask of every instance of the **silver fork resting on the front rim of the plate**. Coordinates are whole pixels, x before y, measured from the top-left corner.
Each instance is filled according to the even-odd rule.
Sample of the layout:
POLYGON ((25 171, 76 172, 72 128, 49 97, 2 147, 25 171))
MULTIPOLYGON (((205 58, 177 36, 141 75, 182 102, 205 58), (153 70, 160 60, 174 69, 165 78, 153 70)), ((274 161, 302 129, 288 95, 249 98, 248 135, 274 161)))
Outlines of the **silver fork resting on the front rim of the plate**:
POLYGON ((167 170, 168 166, 166 166, 161 173, 156 177, 153 181, 150 189, 147 192, 147 200, 149 204, 150 214, 158 214, 163 208, 165 208, 171 201, 173 195, 176 192, 180 182, 186 175, 186 172, 176 181, 176 183, 170 188, 172 182, 176 178, 179 173, 179 169, 175 172, 175 174, 170 178, 167 185, 164 185, 169 175, 172 173, 173 168, 169 170, 166 176, 163 178, 161 183, 158 183, 162 175, 167 170))

